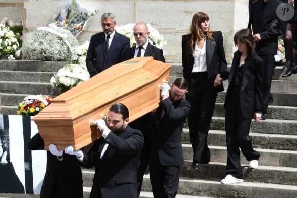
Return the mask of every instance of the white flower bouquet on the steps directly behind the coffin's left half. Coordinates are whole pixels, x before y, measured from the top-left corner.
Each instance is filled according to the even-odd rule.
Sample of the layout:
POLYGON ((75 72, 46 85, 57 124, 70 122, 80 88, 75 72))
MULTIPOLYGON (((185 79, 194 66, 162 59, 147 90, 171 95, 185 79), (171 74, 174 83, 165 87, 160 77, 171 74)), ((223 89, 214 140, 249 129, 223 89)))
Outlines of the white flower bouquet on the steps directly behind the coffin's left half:
POLYGON ((54 88, 61 89, 61 92, 66 92, 89 78, 85 64, 67 64, 52 76, 50 83, 54 88))

